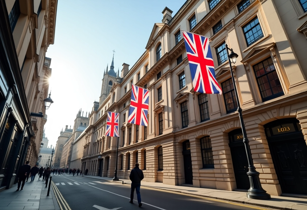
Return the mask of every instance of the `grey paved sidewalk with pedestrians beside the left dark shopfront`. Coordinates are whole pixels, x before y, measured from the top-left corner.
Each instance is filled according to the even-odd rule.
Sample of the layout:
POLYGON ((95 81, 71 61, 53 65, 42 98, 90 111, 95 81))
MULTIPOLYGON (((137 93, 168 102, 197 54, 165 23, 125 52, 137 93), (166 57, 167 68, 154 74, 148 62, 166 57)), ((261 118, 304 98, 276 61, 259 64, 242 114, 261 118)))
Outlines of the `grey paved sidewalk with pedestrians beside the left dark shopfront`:
POLYGON ((32 210, 59 210, 53 189, 45 188, 45 181, 38 180, 25 182, 23 190, 16 192, 17 184, 12 188, 0 192, 0 210, 4 209, 32 209, 32 210))

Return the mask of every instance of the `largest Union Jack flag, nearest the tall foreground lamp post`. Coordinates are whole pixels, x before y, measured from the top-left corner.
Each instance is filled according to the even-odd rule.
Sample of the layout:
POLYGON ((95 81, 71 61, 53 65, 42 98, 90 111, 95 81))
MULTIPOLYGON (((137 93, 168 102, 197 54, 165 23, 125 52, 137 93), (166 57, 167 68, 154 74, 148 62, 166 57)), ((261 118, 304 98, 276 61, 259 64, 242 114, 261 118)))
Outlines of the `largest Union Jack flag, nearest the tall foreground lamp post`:
POLYGON ((183 31, 183 37, 194 91, 222 94, 222 89, 215 78, 209 39, 187 31, 183 31))

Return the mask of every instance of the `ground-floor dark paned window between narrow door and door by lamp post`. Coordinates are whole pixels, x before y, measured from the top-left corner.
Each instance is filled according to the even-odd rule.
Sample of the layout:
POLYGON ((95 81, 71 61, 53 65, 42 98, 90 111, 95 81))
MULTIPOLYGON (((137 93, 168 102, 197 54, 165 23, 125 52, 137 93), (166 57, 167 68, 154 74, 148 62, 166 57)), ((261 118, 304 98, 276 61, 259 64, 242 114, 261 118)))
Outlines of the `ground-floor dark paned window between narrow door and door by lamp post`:
POLYGON ((209 136, 200 139, 201 156, 203 168, 214 168, 211 139, 209 136))

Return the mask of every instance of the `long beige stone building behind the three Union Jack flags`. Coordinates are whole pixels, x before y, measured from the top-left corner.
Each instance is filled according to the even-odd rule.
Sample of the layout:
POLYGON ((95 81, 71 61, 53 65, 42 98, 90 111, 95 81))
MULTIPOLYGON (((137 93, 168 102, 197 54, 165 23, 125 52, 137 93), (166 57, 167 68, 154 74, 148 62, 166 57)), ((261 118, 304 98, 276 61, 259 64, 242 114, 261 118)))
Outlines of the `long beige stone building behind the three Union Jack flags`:
POLYGON ((115 111, 119 178, 128 179, 138 162, 144 181, 248 189, 232 71, 262 188, 307 194, 307 8, 300 2, 188 0, 174 16, 166 7, 146 51, 130 69, 124 63, 109 94, 94 103, 73 144, 79 156, 84 148, 82 170, 114 176, 117 138, 104 133, 106 111, 115 111), (222 95, 193 91, 181 30, 210 37, 222 95), (225 44, 239 55, 232 69, 225 44), (131 84, 150 91, 148 127, 127 123, 131 84))

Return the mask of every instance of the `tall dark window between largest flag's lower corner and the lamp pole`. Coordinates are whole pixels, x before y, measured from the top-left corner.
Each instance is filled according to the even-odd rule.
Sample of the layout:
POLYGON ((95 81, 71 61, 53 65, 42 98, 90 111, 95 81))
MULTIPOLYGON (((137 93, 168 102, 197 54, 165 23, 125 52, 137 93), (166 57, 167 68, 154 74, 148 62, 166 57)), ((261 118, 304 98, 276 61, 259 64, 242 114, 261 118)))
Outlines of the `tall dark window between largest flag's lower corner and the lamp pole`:
POLYGON ((223 95, 225 100, 226 112, 230 113, 238 107, 237 99, 235 98, 235 89, 233 87, 232 79, 226 80, 222 83, 223 95))

